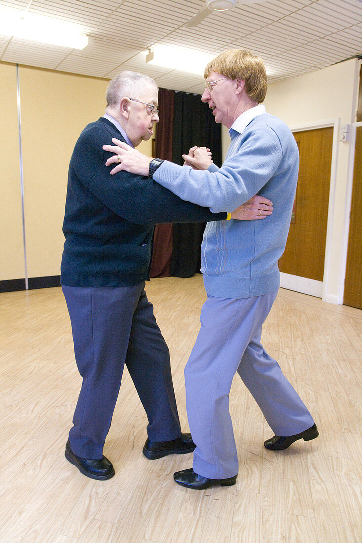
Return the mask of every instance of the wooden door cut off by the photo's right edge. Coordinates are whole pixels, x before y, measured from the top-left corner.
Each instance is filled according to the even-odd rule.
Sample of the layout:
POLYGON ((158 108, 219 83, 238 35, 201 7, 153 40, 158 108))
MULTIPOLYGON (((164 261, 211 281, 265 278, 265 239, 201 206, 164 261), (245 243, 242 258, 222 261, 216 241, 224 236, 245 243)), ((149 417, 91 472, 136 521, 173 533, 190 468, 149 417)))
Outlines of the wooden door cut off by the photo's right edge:
POLYGON ((362 127, 357 127, 345 294, 343 303, 362 309, 362 127))

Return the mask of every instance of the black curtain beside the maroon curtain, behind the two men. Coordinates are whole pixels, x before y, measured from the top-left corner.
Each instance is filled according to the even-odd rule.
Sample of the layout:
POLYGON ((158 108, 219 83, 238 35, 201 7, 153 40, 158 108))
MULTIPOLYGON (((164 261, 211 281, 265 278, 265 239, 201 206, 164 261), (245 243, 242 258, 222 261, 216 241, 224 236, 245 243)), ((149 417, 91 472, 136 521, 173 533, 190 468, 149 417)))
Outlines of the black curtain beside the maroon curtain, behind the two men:
MULTIPOLYGON (((215 164, 221 166, 221 125, 215 123, 213 112, 201 101, 199 94, 175 92, 172 162, 182 165, 182 155, 194 145, 209 147, 215 164)), ((192 277, 199 272, 204 229, 205 223, 173 225, 171 275, 192 277)))

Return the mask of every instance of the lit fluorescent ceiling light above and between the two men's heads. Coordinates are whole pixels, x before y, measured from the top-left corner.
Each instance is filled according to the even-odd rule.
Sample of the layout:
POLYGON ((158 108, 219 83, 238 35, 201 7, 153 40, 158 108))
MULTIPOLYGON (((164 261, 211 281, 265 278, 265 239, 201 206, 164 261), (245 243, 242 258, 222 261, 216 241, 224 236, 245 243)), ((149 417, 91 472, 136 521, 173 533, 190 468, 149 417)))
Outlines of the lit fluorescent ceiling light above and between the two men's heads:
POLYGON ((152 50, 148 49, 146 62, 172 70, 204 75, 206 65, 214 58, 215 55, 201 53, 195 49, 154 46, 152 50))

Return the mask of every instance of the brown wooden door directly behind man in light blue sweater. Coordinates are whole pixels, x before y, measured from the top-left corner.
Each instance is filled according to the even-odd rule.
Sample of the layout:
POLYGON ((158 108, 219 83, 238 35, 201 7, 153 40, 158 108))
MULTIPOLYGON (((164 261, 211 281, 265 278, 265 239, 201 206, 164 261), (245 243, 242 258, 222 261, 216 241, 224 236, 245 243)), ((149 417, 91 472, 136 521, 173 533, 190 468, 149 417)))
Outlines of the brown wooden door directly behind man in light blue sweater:
POLYGON ((300 156, 298 186, 288 242, 278 265, 282 273, 323 281, 333 128, 294 136, 300 156))

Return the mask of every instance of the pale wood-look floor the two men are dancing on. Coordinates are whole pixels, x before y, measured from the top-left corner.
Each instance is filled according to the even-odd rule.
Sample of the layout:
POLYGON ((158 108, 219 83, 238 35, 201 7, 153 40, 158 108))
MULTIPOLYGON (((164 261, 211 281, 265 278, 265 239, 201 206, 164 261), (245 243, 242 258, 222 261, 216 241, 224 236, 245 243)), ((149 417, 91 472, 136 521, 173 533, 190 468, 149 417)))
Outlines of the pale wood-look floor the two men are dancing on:
MULTIPOLYGON (((155 279, 149 299, 170 346, 186 430, 183 368, 198 330, 201 276, 155 279)), ((263 333, 320 437, 271 452, 238 376, 230 394, 236 485, 173 482, 191 454, 147 460, 146 418, 125 371, 104 453, 110 481, 64 458, 80 387, 60 288, 0 295, 1 543, 355 543, 362 541, 362 311, 280 289, 263 333)))

